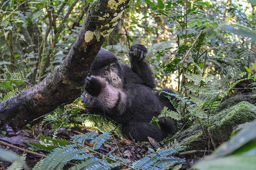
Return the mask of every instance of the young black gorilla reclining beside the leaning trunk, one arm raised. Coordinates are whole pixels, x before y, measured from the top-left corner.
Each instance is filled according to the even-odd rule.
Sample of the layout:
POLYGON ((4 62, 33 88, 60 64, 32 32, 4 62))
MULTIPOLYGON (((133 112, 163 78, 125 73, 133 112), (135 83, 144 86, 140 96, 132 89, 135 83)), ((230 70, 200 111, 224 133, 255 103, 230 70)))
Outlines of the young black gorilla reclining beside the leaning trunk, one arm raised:
MULTIPOLYGON (((174 108, 166 97, 152 92, 155 81, 144 60, 147 52, 145 46, 133 44, 129 51, 130 68, 119 64, 113 53, 100 50, 91 66, 91 77, 86 78, 84 102, 122 124, 123 133, 128 138, 148 141, 150 136, 161 141, 174 131, 174 121, 162 118, 159 121, 161 130, 150 121, 161 113, 163 105, 174 108)), ((170 89, 166 90, 173 93, 170 89)))

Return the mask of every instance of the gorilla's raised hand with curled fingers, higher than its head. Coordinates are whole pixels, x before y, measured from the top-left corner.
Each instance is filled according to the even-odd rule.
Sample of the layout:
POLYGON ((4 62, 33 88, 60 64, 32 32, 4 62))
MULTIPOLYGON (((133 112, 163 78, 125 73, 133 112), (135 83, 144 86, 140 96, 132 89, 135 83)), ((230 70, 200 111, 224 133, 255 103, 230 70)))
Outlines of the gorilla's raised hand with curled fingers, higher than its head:
POLYGON ((141 44, 133 44, 129 51, 130 57, 134 57, 139 61, 144 59, 147 53, 148 53, 148 49, 141 44))

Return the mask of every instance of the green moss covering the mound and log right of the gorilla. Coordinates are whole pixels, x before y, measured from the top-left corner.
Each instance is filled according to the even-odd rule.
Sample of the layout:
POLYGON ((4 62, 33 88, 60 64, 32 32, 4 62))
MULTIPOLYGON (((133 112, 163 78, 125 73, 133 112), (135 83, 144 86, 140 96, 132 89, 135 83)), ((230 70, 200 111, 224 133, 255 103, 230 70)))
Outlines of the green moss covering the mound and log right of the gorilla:
MULTIPOLYGON (((214 116, 210 126, 213 142, 216 146, 227 141, 237 125, 256 119, 256 106, 249 102, 240 102, 231 106, 214 116)), ((182 144, 187 146, 186 150, 205 149, 208 147, 208 135, 204 135, 199 123, 189 127, 173 138, 183 139, 182 144)), ((211 144, 210 144, 211 145, 211 144)))

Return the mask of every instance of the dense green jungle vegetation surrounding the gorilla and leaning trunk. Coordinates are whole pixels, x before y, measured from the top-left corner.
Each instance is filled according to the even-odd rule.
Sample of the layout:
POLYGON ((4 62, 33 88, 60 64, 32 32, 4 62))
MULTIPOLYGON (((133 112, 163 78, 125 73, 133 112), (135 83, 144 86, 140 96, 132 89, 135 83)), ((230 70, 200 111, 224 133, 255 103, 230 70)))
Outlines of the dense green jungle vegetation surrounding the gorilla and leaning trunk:
MULTIPOLYGON (((63 62, 92 3, 0 2, 1 102, 37 85, 63 62)), ((120 125, 91 113, 82 104, 81 96, 72 104, 28 122, 27 134, 20 132, 12 141, 1 136, 4 149, 6 145, 1 141, 21 148, 29 146, 32 151, 14 149, 19 156, 1 149, 2 169, 256 167, 256 0, 131 0, 128 6, 102 48, 115 53, 120 63, 129 64, 128 51, 133 43, 148 47, 146 60, 154 72, 157 89, 174 89, 176 94, 170 95, 176 100, 170 102, 177 110, 165 108, 152 123, 158 124, 159 118, 169 116, 176 122, 176 134, 160 144, 128 141, 120 125), (247 102, 239 103, 234 98, 247 102), (232 111, 242 117, 233 117, 232 111), (230 127, 221 123, 230 123, 230 127), (50 130, 48 135, 45 130, 50 130), (224 139, 221 135, 226 132, 228 138, 224 139), (40 136, 40 140, 19 136, 40 136), (17 141, 25 141, 26 146, 17 141), (203 147, 191 147, 191 141, 202 142, 197 145, 203 147), (35 153, 41 155, 31 156, 35 153)))

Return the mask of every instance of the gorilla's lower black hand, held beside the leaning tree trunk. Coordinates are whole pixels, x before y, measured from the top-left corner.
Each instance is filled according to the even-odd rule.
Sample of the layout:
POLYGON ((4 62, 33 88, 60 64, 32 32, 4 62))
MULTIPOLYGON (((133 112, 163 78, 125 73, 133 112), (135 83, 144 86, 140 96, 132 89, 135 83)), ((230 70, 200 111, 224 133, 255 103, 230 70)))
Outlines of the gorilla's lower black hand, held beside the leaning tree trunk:
POLYGON ((106 86, 106 81, 101 77, 86 77, 86 87, 85 90, 91 96, 99 96, 100 92, 102 91, 102 87, 106 86))

